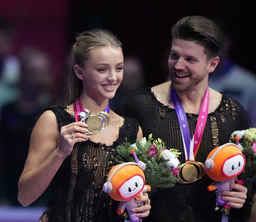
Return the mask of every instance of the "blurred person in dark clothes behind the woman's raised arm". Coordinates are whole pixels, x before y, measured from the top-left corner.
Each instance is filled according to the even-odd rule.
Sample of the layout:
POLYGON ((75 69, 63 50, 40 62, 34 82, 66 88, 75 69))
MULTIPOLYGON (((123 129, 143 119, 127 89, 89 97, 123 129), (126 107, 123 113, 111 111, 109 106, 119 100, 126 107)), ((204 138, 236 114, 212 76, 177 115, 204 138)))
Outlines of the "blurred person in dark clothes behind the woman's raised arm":
MULTIPOLYGON (((0 118, 2 205, 20 205, 17 200, 18 180, 27 158, 30 133, 40 110, 53 102, 53 73, 47 54, 26 47, 20 52, 20 63, 19 98, 2 107, 0 118)), ((46 205, 48 192, 34 205, 46 205)))

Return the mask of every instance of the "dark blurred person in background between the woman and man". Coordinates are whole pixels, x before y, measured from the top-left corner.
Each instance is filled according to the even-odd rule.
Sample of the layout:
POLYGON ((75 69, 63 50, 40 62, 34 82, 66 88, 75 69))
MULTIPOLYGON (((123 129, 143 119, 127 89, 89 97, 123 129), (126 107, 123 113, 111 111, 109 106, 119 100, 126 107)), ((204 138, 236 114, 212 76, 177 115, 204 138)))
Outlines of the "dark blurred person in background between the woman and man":
POLYGON ((115 108, 126 95, 145 87, 145 76, 142 64, 136 57, 124 57, 124 73, 115 97, 110 100, 110 107, 115 108))

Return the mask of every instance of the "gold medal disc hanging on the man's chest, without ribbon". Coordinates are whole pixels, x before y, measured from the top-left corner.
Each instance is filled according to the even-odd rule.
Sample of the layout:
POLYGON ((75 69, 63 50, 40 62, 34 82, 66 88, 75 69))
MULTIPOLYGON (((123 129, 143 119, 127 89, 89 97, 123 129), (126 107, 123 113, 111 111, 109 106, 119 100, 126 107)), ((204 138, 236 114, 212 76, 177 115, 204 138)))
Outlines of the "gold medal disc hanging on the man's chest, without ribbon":
POLYGON ((178 166, 179 173, 177 178, 178 183, 190 184, 201 179, 204 174, 204 165, 200 162, 187 161, 186 163, 178 166))

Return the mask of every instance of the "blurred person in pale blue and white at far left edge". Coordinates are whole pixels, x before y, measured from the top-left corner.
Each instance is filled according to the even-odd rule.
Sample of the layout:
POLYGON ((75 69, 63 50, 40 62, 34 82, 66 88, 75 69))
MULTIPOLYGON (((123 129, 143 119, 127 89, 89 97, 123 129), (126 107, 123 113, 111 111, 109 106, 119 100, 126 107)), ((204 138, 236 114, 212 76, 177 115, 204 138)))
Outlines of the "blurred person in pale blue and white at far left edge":
POLYGON ((18 96, 20 62, 13 54, 13 39, 12 25, 0 16, 0 108, 18 96))

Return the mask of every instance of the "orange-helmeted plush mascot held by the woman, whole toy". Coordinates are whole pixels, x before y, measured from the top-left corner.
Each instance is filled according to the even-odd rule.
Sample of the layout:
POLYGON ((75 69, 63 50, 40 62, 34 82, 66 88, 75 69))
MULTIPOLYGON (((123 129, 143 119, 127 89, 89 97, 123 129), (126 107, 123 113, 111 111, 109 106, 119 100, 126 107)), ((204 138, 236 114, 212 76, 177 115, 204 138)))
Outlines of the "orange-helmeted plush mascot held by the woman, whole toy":
POLYGON ((141 206, 136 203, 140 200, 142 192, 150 191, 150 186, 145 185, 145 175, 143 171, 146 165, 139 161, 134 150, 131 150, 135 157, 135 162, 128 162, 115 165, 109 172, 107 182, 103 185, 103 191, 111 198, 121 201, 117 208, 117 213, 121 215, 127 209, 129 220, 126 222, 139 222, 141 218, 135 216, 132 208, 141 206))

